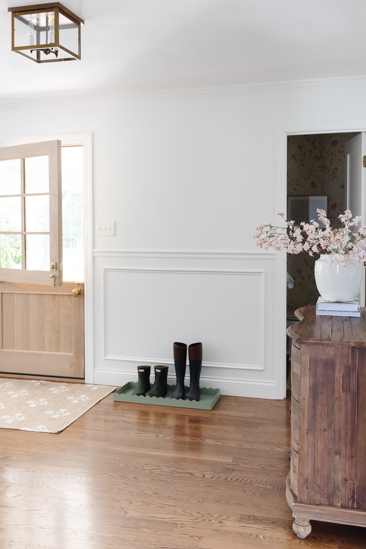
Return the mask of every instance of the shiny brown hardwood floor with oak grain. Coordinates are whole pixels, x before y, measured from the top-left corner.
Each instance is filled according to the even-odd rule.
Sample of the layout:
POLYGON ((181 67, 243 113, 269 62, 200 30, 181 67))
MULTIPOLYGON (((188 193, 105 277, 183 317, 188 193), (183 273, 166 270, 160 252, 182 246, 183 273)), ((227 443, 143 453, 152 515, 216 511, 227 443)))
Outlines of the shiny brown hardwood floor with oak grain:
POLYGON ((195 411, 99 402, 58 435, 0 429, 1 549, 366 548, 285 500, 289 400, 195 411))

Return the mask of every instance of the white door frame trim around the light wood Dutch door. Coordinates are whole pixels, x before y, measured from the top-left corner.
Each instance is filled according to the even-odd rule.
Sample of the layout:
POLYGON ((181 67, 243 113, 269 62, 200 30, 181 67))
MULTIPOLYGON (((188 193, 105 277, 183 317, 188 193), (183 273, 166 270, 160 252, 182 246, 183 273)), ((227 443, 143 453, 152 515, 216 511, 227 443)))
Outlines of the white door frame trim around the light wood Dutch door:
POLYGON ((84 160, 84 345, 85 383, 94 383, 94 318, 93 318, 93 164, 92 133, 28 136, 2 142, 1 147, 40 141, 61 140, 62 145, 83 145, 84 160))

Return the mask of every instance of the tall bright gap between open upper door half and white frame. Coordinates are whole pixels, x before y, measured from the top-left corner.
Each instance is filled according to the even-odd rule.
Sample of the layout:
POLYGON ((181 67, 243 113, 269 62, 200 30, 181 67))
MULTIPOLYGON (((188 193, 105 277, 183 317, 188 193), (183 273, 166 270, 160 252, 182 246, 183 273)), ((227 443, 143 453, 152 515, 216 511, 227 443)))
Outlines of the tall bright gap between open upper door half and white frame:
POLYGON ((83 147, 62 147, 63 279, 84 281, 83 147))

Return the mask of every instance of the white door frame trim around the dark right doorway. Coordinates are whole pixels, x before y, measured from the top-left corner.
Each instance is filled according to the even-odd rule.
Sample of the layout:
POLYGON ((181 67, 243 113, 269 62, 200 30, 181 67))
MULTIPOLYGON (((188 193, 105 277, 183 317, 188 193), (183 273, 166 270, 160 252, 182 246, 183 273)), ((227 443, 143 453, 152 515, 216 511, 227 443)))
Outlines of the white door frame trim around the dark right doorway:
MULTIPOLYGON (((312 133, 366 131, 366 120, 341 120, 275 126, 275 211, 287 210, 287 137, 312 133)), ((363 175, 363 178, 366 174, 363 175)), ((365 220, 366 221, 366 220, 365 220)), ((277 399, 286 397, 286 253, 276 252, 275 262, 275 380, 277 399)))

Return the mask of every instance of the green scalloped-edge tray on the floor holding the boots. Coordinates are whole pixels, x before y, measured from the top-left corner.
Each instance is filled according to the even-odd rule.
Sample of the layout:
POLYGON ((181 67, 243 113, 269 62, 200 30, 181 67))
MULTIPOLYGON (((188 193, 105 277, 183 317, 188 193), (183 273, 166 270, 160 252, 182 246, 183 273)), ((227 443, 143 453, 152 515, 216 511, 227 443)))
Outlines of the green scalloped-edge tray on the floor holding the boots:
MULTIPOLYGON (((176 385, 168 385, 166 396, 132 396, 132 391, 137 382, 129 381, 113 394, 113 400, 118 402, 136 402, 136 404, 157 404, 160 406, 174 406, 175 408, 194 408, 195 410, 212 410, 220 397, 219 389, 207 389, 201 387, 200 400, 182 400, 172 399, 172 394, 176 390, 176 385)), ((188 387, 185 388, 188 392, 188 387)))

